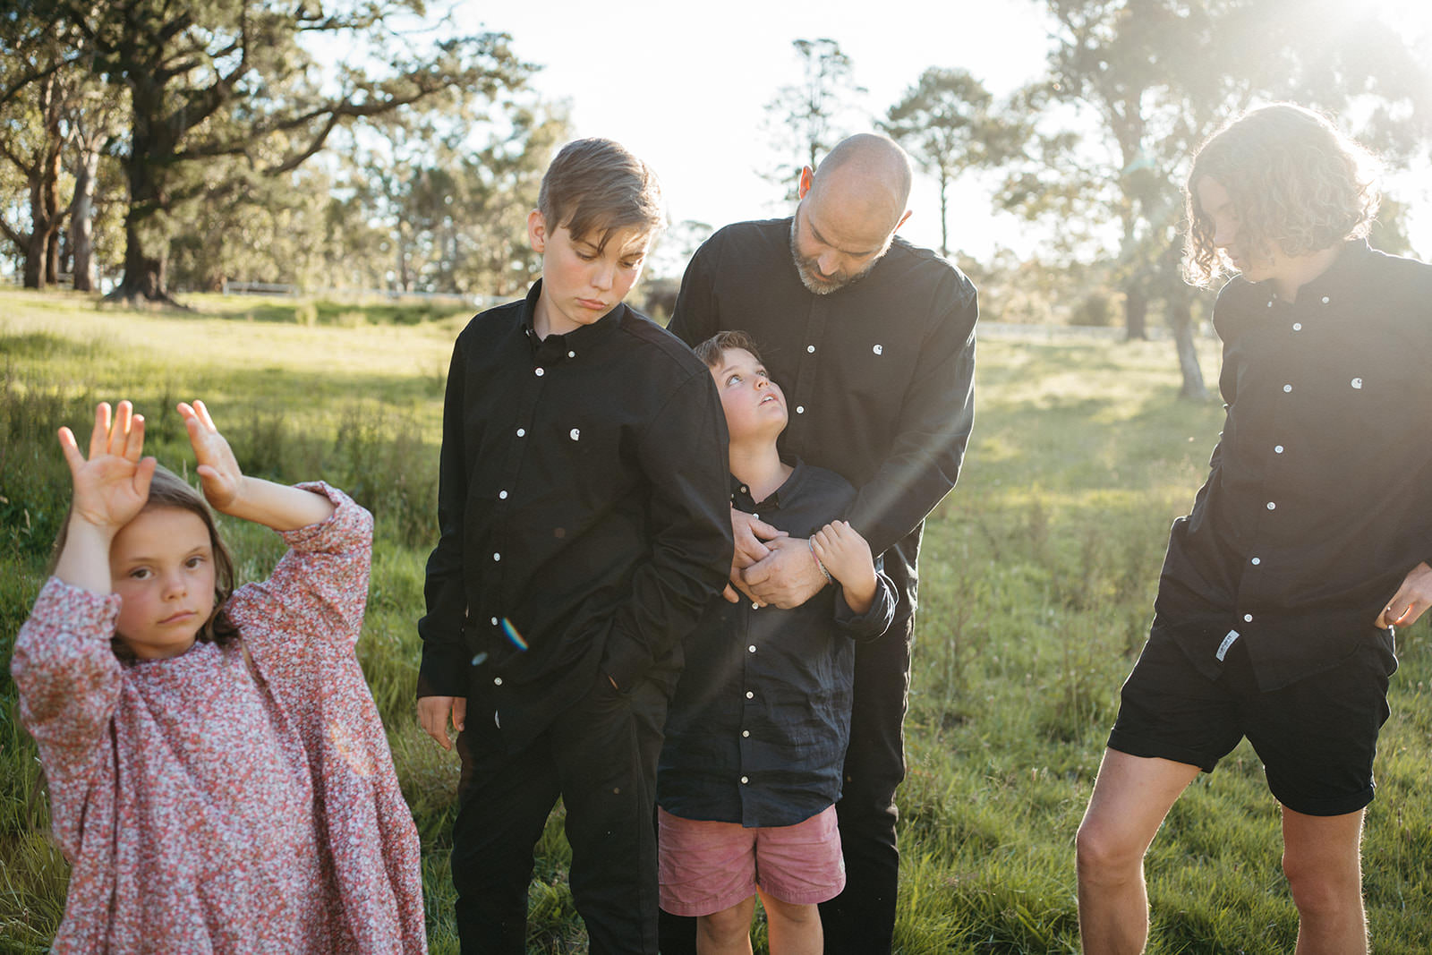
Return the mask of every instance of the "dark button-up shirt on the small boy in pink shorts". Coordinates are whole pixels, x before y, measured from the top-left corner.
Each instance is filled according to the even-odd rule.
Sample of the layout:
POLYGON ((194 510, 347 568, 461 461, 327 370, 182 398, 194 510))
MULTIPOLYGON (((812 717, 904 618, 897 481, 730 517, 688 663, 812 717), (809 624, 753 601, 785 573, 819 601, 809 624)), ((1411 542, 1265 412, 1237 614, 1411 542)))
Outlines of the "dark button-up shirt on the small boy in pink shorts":
MULTIPOLYGON (((855 488, 796 462, 759 504, 736 483, 732 504, 792 537, 843 513, 855 488)), ((841 798, 851 739, 853 640, 895 619, 895 587, 876 574, 875 600, 856 616, 839 584, 792 610, 715 598, 686 639, 686 669, 666 722, 657 802, 683 819, 792 826, 841 798)))

